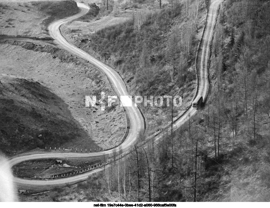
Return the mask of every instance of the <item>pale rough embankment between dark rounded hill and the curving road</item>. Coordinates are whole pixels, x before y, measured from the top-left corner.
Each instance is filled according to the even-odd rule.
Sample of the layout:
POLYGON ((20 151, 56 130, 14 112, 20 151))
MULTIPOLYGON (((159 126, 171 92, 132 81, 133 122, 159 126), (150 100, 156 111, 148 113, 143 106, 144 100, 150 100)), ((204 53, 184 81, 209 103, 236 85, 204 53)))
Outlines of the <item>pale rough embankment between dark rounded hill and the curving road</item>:
POLYGON ((86 95, 97 95, 97 100, 102 91, 106 96, 113 95, 105 77, 96 68, 53 46, 17 41, 2 42, 0 60, 1 74, 32 78, 67 104, 86 136, 65 141, 62 144, 65 148, 107 149, 119 142, 125 132, 125 119, 119 104, 106 107, 105 111, 99 105, 85 107, 86 95))

